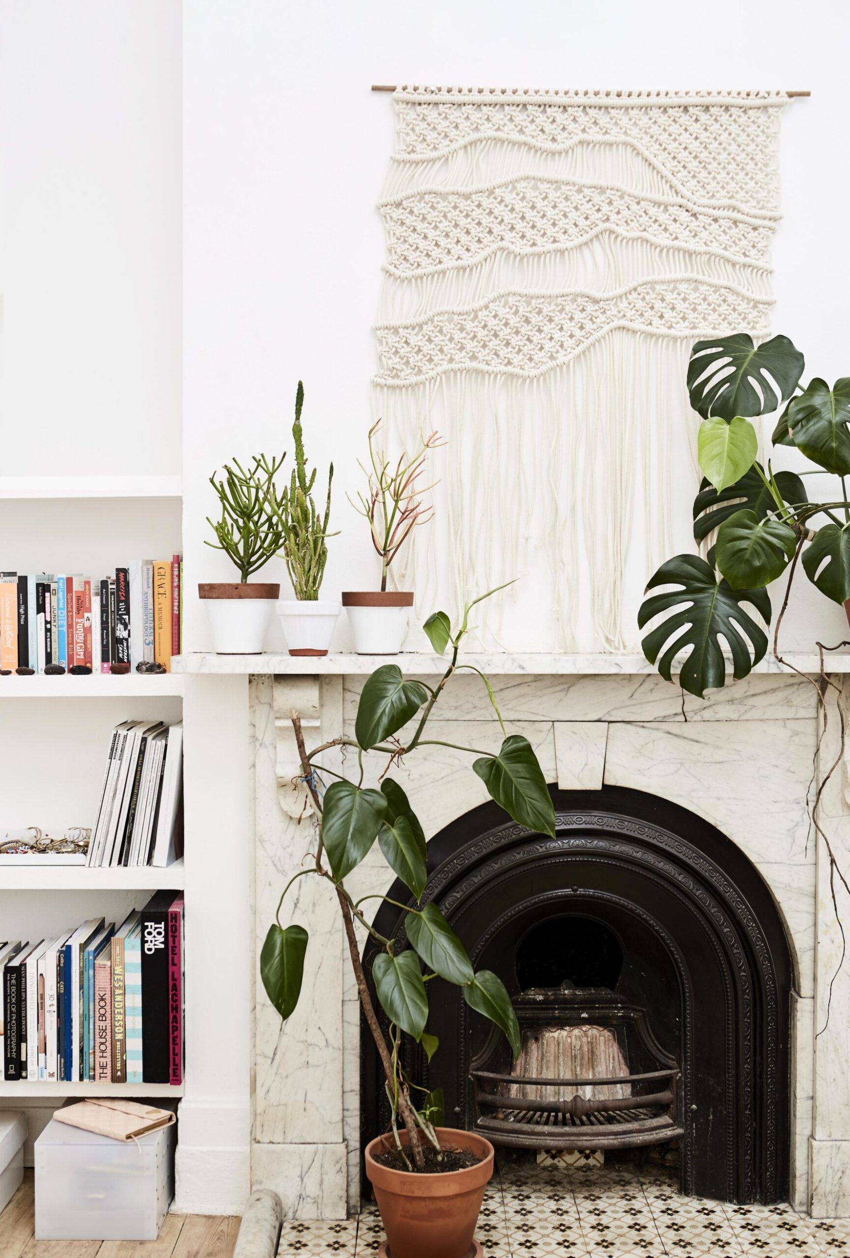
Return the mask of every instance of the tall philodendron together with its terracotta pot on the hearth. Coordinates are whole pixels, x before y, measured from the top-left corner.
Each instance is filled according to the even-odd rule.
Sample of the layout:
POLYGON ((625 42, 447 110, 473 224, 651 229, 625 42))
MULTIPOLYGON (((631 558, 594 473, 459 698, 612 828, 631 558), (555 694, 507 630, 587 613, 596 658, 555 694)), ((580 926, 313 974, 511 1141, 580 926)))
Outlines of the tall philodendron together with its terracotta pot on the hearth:
MULTIPOLYGON (((451 662, 434 689, 422 682, 406 679, 397 664, 384 664, 371 674, 357 707, 355 738, 338 737, 308 750, 301 720, 293 713, 302 781, 316 814, 314 859, 284 887, 278 920, 269 927, 260 954, 265 991, 280 1016, 287 1019, 298 1004, 308 933, 298 923, 282 926, 280 908, 298 878, 312 876, 324 879, 339 906, 361 1008, 386 1077, 392 1112, 390 1130, 367 1146, 366 1172, 375 1188, 394 1258, 465 1258, 484 1189, 493 1174, 493 1146, 489 1141, 475 1132, 444 1127, 441 1089, 429 1091, 420 1086, 401 1064, 402 1035, 412 1035, 422 1045, 429 1062, 439 1048, 436 1037, 428 1032, 428 985, 439 976, 458 986, 470 1009, 490 1019, 504 1033, 514 1060, 521 1050, 517 1015, 502 980, 488 970, 473 969, 460 938, 436 903, 428 898, 425 835, 401 785, 389 776, 390 770, 401 767, 405 756, 412 751, 445 746, 436 738, 425 737, 428 720, 455 673, 472 667, 458 663, 470 606, 473 604, 464 609, 456 633, 453 633, 445 613, 435 613, 424 625, 439 654, 451 647, 451 662), (358 775, 355 780, 322 764, 323 756, 333 747, 356 750, 358 775), (380 790, 362 785, 365 756, 381 757, 380 790), (324 785, 324 775, 334 779, 328 786, 324 785), (410 891, 407 905, 399 905, 406 910, 409 945, 400 950, 392 940, 376 931, 362 912, 361 902, 356 902, 346 887, 347 876, 376 840, 391 869, 410 891), (389 1019, 387 1034, 372 1003, 356 923, 378 945, 372 982, 389 1019)), ((504 723, 487 678, 484 684, 504 735, 504 723)), ((514 821, 532 832, 555 837, 552 799, 537 756, 526 738, 505 735, 498 752, 472 747, 458 750, 477 757, 473 771, 514 821)), ((387 897, 366 898, 384 901, 387 897)))

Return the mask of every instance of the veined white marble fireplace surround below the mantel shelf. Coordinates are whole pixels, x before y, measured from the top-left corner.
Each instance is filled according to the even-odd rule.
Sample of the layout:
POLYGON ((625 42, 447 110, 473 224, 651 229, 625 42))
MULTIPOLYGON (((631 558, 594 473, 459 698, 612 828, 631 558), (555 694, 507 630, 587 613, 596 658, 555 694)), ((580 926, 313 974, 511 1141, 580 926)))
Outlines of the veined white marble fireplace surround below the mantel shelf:
MULTIPOLYGON (((715 825, 759 871, 785 923, 796 976, 791 1203, 815 1218, 850 1215, 850 962, 839 969, 842 940, 829 862, 806 811, 812 774, 817 781, 837 755, 836 713, 816 756, 816 692, 792 673, 753 673, 709 699, 687 696, 683 706, 678 687, 654 674, 503 668, 492 668, 490 679, 505 723, 529 738, 548 781, 562 790, 605 784, 668 799, 715 825)), ((285 881, 312 849, 312 820, 298 820, 303 789, 293 786, 289 715, 302 716, 308 745, 341 730, 353 735, 363 681, 361 668, 251 677, 258 957, 285 881)), ((846 699, 849 682, 842 684, 846 699)), ((835 698, 829 702, 834 707, 835 698)), ((494 750, 502 737, 472 673, 453 679, 429 730, 435 738, 494 750)), ((428 835, 487 798, 469 757, 448 747, 411 756, 400 780, 428 835)), ((849 798, 841 765, 824 793, 822 818, 845 869, 849 798)), ((363 896, 386 892, 392 881, 375 845, 350 886, 363 896)), ((290 1218, 341 1219, 360 1208, 360 1016, 336 902, 316 883, 299 879, 282 911, 284 923, 299 921, 311 933, 302 999, 285 1025, 265 998, 257 964, 251 1183, 275 1189, 290 1218)), ((837 896, 842 921, 850 921, 850 897, 841 888, 837 896)))

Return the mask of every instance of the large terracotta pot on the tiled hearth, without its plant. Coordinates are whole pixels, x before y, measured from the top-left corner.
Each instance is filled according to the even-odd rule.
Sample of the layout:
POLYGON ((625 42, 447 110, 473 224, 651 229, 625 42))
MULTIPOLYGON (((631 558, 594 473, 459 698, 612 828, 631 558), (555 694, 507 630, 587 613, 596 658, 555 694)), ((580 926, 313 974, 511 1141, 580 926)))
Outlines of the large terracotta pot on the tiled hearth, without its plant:
MULTIPOLYGON (((401 1133, 409 1144, 407 1132, 401 1133)), ((469 1149, 482 1157, 477 1166, 444 1175, 395 1171, 375 1161, 376 1154, 395 1147, 391 1136, 378 1136, 366 1146, 368 1175, 391 1258, 466 1258, 473 1243, 484 1189, 493 1175, 493 1145, 473 1131, 438 1127, 441 1145, 469 1149)))

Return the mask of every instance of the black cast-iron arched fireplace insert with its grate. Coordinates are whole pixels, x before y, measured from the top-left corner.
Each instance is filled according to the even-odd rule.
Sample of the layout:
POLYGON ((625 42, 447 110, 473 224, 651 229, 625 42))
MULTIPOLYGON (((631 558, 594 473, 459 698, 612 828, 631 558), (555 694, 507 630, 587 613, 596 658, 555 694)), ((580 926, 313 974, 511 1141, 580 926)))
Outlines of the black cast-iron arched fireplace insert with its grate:
MULTIPOLYGON (((552 796, 553 840, 487 804, 429 843, 424 898, 508 988, 521 1062, 512 1073, 504 1037, 434 980, 440 1047, 430 1066, 411 1049, 412 1077, 444 1088, 448 1125, 494 1144, 676 1144, 683 1191, 785 1199, 792 962, 767 886, 676 805, 611 788, 552 796)), ((390 894, 409 899, 399 882, 390 894)), ((376 926, 404 944, 399 910, 384 905, 376 926)), ((366 1142, 389 1113, 368 1033, 362 1047, 366 1142)))

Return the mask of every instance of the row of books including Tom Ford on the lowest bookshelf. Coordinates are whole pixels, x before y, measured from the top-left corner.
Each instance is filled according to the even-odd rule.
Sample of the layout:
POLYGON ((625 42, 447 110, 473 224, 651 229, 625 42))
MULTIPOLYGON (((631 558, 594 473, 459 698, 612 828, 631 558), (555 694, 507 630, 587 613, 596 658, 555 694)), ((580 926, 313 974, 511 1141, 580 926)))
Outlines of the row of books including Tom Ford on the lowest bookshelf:
POLYGON ((38 944, 0 942, 4 1078, 184 1078, 184 901, 158 891, 116 928, 102 917, 38 944))

